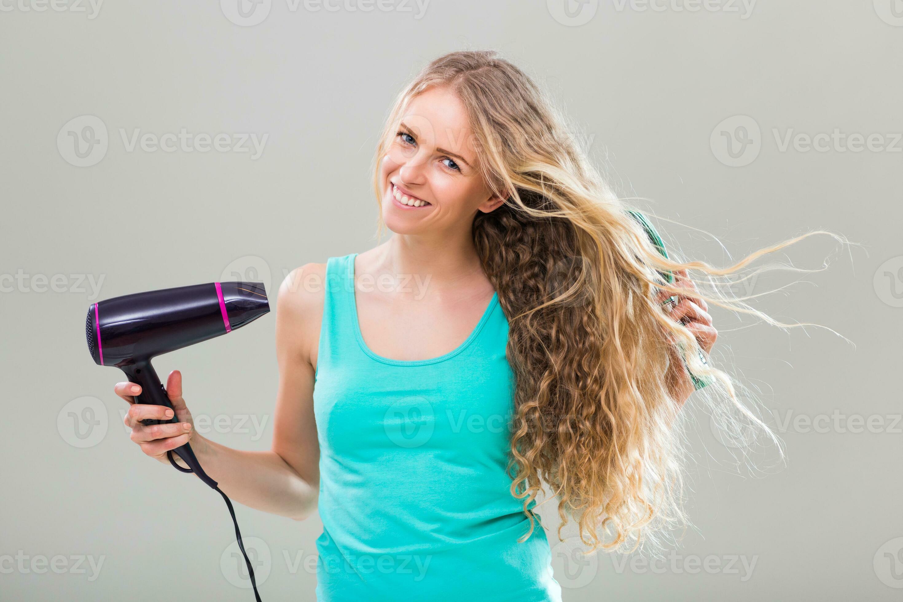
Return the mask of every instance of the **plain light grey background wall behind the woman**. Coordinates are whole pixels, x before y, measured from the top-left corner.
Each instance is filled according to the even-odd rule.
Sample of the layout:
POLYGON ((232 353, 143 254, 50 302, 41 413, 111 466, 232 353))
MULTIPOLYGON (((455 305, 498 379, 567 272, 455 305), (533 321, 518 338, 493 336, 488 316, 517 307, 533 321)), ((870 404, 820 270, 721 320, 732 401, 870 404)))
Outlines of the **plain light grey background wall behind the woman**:
MULTIPOLYGON (((228 2, 109 2, 94 18, 90 5, 22 3, 0 13, 0 598, 252 599, 235 585, 219 495, 128 439, 126 403, 112 391, 121 375, 94 366, 85 348, 88 303, 237 274, 272 292, 295 266, 375 245, 369 165, 396 91, 439 53, 492 48, 551 90, 620 194, 683 224, 658 222, 685 255, 727 264, 712 236, 740 258, 821 228, 860 244, 809 238, 776 259, 819 269, 827 257, 827 270, 763 276, 751 289, 788 285, 755 306, 855 345, 827 329, 783 331, 713 310, 716 357, 759 391, 773 425, 786 425, 776 428, 787 466, 767 477, 731 466, 708 417, 688 404, 695 528, 655 570, 607 555, 580 564, 558 546, 564 599, 899 599, 903 143, 891 134, 903 132, 903 19, 891 0, 761 0, 747 18, 739 3, 691 13, 600 0, 573 19, 555 1, 433 0, 419 14, 400 0, 366 13, 274 0, 253 26, 230 22, 228 2), (57 143, 79 116, 107 127, 93 166, 70 164, 72 144, 57 143), (749 118, 760 129, 747 130, 749 152, 759 154, 727 165, 712 134, 742 136, 749 118), (268 138, 252 159, 128 152, 120 134, 182 127, 268 138), (891 148, 782 151, 774 134, 835 128, 885 134, 891 148), (104 279, 98 295, 80 282, 88 277, 104 279), (827 428, 806 427, 835 414, 819 423, 827 428), (883 426, 857 429, 857 415, 883 426), (59 572, 40 560, 54 556, 59 572), (97 575, 90 559, 103 560, 97 575), (751 573, 743 560, 755 562, 751 573), (699 570, 706 561, 721 568, 699 570)), ((212 439, 268 448, 274 324, 267 316, 156 361, 161 375, 182 369, 195 415, 220 420, 212 439)), ((319 519, 237 514, 267 567, 263 597, 314 599, 319 519)))

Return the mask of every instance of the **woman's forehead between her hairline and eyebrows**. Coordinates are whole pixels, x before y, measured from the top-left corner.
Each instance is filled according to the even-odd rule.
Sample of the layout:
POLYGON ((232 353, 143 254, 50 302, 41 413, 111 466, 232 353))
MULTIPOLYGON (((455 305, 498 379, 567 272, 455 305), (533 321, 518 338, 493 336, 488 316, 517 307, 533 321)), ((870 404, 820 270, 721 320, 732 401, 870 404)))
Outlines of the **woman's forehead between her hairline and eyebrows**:
POLYGON ((461 98, 445 87, 427 88, 408 102, 401 121, 414 130, 418 143, 473 156, 472 130, 461 98))

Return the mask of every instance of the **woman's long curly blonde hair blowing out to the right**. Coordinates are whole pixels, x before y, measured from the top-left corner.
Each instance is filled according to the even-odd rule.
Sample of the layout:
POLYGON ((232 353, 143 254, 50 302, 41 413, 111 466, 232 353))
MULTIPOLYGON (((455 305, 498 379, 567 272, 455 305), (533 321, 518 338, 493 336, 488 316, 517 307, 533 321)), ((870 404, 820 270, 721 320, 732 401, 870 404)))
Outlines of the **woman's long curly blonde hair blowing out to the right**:
MULTIPOLYGON (((803 326, 772 320, 743 302, 749 297, 732 294, 731 285, 768 266, 730 282, 727 276, 805 236, 838 235, 809 232, 725 268, 678 261, 673 251, 666 258, 592 167, 548 96, 493 51, 443 55, 400 92, 377 144, 377 199, 379 162, 405 107, 433 86, 461 98, 482 176, 505 199, 478 213, 473 240, 509 317, 507 359, 517 386, 508 471, 511 494, 524 500, 531 525, 520 541, 533 533, 545 482, 559 500, 560 540, 570 517, 589 552, 646 543, 657 551, 670 528, 689 523, 682 508, 687 454, 675 421, 682 414, 668 376, 674 348, 686 350, 687 368, 709 382, 694 399, 707 405, 723 438, 736 441, 733 449, 744 453, 749 429, 781 449, 759 412, 740 402, 738 388, 746 388, 699 355, 692 332, 656 302, 660 289, 685 292, 663 273, 685 268, 700 284, 697 296, 711 304, 780 327, 803 326)), ((380 218, 380 234, 383 227, 380 218)))

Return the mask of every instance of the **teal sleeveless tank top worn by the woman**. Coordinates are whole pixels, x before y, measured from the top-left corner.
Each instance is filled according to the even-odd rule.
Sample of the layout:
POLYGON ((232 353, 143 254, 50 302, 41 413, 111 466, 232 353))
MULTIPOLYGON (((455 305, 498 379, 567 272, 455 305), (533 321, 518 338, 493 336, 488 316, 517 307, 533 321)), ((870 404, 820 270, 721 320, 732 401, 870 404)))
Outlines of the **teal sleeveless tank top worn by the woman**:
POLYGON ((401 361, 364 343, 357 253, 330 257, 314 376, 319 602, 561 602, 538 521, 509 491, 514 374, 498 293, 459 347, 401 361))

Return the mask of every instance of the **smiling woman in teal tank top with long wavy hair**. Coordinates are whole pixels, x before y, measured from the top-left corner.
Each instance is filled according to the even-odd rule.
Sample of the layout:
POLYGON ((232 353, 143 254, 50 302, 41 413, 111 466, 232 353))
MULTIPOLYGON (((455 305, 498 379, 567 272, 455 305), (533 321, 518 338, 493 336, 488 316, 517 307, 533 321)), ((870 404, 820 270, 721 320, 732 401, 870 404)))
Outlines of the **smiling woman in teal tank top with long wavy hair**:
POLYGON ((376 158, 394 236, 280 288, 272 450, 194 432, 178 371, 181 422, 144 427, 168 411, 133 404, 132 440, 164 463, 191 441, 244 505, 303 520, 319 503, 320 600, 560 600, 535 528, 541 481, 591 551, 636 547, 685 518, 673 422, 688 369, 713 385, 701 395, 767 431, 704 363, 706 299, 747 306, 703 295, 687 270, 730 274, 783 245, 723 270, 660 254, 534 83, 492 52, 433 60, 376 158))

